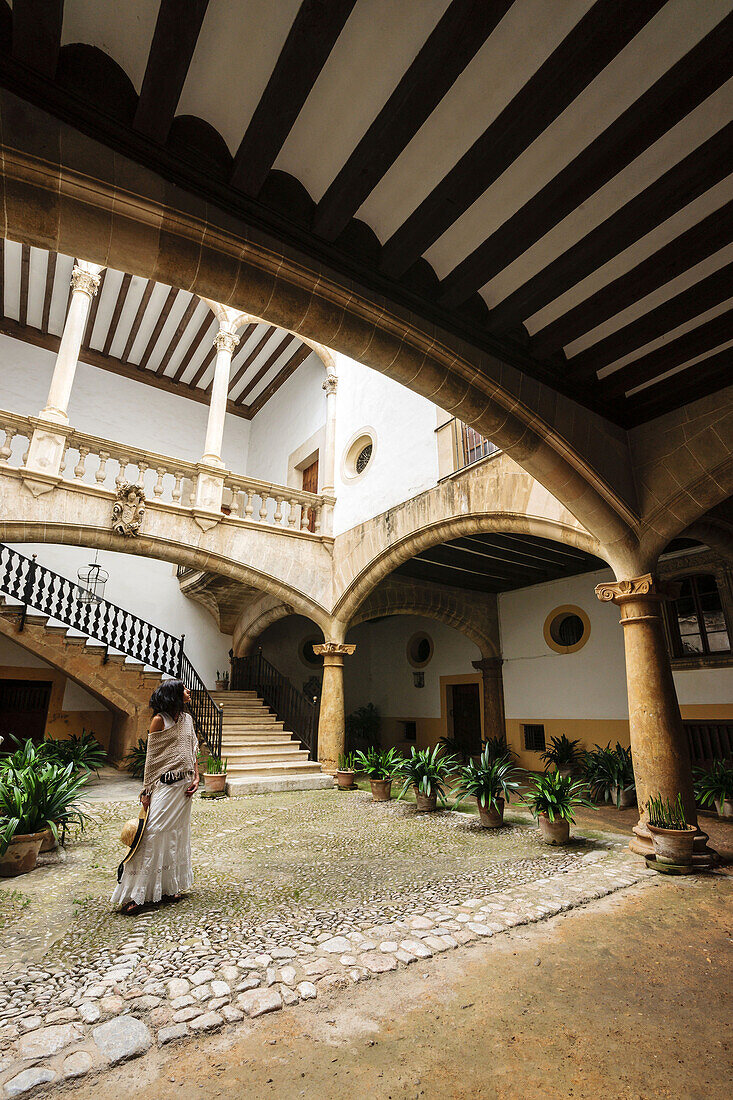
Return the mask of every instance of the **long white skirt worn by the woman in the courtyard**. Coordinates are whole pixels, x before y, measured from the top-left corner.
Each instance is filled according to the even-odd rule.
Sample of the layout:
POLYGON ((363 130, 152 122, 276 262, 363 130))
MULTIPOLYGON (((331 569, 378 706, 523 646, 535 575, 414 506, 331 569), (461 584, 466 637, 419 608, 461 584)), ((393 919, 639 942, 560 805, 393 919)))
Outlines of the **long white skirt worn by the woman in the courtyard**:
POLYGON ((153 791, 147 824, 136 853, 125 864, 122 880, 112 894, 117 909, 134 902, 158 902, 164 894, 186 893, 194 883, 190 862, 190 807, 186 795, 190 780, 153 791))

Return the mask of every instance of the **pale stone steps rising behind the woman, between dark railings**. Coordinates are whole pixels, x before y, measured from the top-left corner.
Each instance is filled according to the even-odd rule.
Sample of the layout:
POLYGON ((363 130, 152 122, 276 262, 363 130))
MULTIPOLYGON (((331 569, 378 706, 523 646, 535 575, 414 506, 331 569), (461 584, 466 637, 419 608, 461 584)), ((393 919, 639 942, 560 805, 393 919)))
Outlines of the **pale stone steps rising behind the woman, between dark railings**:
POLYGON ((331 776, 308 759, 255 692, 211 692, 211 697, 223 711, 221 756, 228 761, 227 790, 232 798, 333 787, 331 776))

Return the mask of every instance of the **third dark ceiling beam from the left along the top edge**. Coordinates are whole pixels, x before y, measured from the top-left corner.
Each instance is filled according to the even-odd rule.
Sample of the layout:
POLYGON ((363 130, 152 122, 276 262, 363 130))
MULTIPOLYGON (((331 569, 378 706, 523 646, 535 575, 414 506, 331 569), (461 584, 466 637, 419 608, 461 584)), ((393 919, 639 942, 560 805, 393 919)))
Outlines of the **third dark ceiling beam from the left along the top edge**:
POLYGON ((231 184, 245 195, 260 193, 354 2, 303 0, 234 156, 231 184))

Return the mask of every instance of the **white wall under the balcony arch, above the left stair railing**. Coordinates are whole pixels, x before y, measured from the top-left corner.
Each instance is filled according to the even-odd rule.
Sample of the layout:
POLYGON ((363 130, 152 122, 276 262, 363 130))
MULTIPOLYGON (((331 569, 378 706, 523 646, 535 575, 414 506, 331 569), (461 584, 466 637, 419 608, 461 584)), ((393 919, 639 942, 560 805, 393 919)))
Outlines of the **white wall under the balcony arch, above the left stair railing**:
MULTIPOLYGON (((76 580, 77 571, 94 561, 95 551, 54 543, 23 543, 14 549, 37 554, 40 564, 76 580)), ((160 626, 168 634, 186 635, 185 650, 208 688, 218 669, 229 668, 231 636, 221 634, 211 615, 182 593, 175 565, 154 558, 99 551, 99 564, 109 573, 105 598, 160 626)))

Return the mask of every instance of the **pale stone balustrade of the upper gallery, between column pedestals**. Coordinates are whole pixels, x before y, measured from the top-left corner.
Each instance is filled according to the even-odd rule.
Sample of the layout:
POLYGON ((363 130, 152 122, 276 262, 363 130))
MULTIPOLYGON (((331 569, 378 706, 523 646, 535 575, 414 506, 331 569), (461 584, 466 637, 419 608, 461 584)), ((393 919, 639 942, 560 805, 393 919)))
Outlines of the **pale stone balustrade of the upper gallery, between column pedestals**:
MULTIPOLYGON (((0 410, 0 464, 24 468, 33 435, 29 417, 0 410)), ((142 485, 152 503, 193 507, 198 466, 155 451, 144 451, 112 440, 72 430, 66 438, 61 477, 72 484, 96 485, 116 492, 125 482, 142 485)), ((325 510, 333 499, 222 471, 222 519, 243 520, 320 536, 325 510), (311 522, 311 518, 315 522, 311 522), (315 530, 311 531, 311 527, 315 530)))

